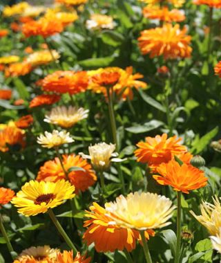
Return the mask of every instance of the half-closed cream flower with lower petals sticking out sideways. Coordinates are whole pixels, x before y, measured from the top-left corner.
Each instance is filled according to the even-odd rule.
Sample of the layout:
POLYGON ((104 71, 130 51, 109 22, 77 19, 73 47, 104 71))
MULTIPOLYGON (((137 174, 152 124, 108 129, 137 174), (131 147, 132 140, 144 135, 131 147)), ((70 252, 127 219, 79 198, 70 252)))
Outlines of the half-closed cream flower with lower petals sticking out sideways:
POLYGON ((83 158, 88 158, 91 161, 93 168, 97 171, 106 171, 113 162, 124 161, 120 158, 112 158, 118 156, 115 152, 115 145, 112 143, 96 143, 95 145, 88 147, 89 155, 80 153, 83 158))

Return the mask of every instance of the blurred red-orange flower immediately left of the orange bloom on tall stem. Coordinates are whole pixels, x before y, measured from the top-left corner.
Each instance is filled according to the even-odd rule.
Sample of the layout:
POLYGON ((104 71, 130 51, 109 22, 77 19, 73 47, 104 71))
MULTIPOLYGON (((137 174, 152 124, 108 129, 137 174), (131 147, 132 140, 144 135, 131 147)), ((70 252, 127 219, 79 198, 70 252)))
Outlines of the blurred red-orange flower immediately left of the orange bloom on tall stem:
POLYGON ((44 91, 76 94, 86 91, 88 75, 86 71, 55 71, 43 80, 44 91))

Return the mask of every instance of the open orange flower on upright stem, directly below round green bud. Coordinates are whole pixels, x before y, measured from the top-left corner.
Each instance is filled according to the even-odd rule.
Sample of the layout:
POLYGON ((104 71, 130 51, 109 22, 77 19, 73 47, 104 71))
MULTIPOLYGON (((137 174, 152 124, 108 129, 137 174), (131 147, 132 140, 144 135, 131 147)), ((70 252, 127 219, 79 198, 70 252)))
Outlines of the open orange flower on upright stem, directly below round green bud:
POLYGON ((186 194, 189 194, 189 190, 204 187, 208 180, 202 170, 186 163, 180 166, 174 160, 159 165, 157 172, 160 175, 153 175, 157 183, 171 185, 175 191, 182 191, 186 194))

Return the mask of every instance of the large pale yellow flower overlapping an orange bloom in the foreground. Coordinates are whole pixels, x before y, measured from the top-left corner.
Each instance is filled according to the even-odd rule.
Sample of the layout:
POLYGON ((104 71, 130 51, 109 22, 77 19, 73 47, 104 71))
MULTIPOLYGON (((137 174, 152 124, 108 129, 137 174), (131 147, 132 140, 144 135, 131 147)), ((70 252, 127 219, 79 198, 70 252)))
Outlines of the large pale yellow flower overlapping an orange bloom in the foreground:
POLYGON ((127 197, 120 195, 105 207, 111 212, 112 224, 137 230, 168 226, 171 223, 167 220, 175 209, 169 198, 151 192, 135 192, 127 197))

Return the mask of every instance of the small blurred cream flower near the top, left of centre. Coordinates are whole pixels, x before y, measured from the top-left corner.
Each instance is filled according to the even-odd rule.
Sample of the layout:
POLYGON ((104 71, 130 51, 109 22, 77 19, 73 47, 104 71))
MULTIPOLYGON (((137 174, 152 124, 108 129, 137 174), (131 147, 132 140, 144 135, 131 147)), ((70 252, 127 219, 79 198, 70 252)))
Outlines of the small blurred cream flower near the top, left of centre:
POLYGON ((86 21, 86 28, 93 30, 113 29, 114 26, 113 18, 109 15, 93 14, 86 21))

